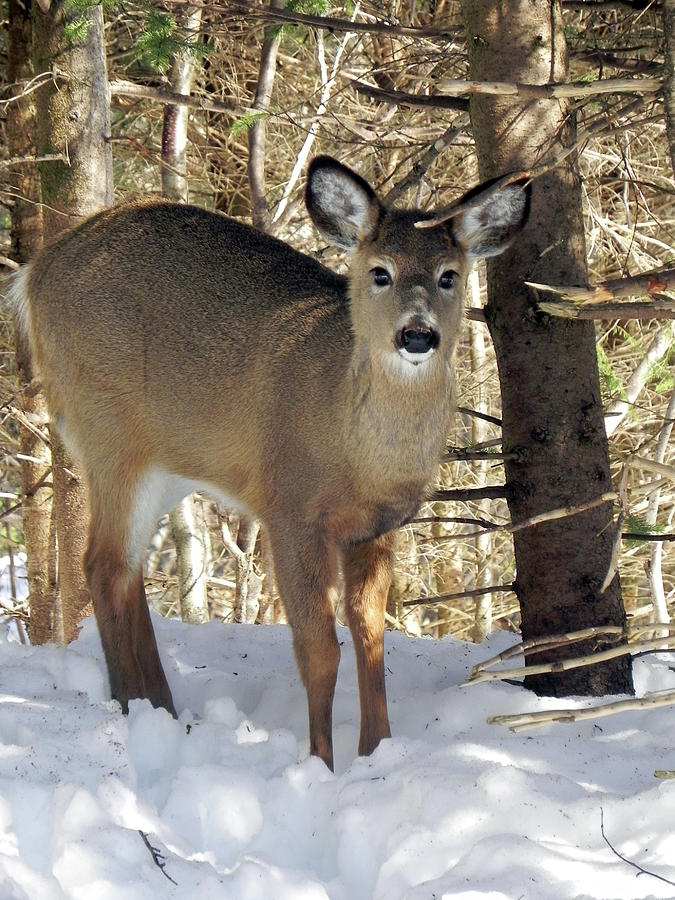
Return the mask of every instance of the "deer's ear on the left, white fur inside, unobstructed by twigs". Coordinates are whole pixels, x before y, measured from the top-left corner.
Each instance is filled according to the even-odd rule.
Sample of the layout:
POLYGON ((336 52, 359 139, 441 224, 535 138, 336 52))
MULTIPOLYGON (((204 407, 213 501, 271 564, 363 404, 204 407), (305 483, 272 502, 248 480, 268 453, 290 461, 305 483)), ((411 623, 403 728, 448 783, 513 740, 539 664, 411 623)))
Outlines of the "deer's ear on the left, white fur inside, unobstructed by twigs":
POLYGON ((305 203, 321 234, 343 250, 372 237, 382 213, 368 182, 330 156, 310 163, 305 203))

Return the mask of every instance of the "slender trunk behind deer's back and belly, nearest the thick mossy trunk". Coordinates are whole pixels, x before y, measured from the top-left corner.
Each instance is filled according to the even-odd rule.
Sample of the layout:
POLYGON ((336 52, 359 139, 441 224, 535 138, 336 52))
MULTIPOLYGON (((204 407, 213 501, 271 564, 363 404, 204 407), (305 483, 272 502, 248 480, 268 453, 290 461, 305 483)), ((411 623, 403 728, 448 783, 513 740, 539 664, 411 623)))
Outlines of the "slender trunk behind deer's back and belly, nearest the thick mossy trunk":
MULTIPOLYGON (((185 17, 183 28, 188 38, 199 34, 202 11, 193 9, 185 17)), ((194 58, 189 53, 177 55, 171 67, 170 87, 178 94, 189 94, 194 77, 194 58)), ((162 194, 169 200, 188 200, 185 151, 187 148, 188 107, 164 107, 162 128, 162 194)), ((185 497, 169 514, 176 545, 176 571, 181 618, 198 624, 209 621, 206 596, 206 535, 194 499, 185 497)))

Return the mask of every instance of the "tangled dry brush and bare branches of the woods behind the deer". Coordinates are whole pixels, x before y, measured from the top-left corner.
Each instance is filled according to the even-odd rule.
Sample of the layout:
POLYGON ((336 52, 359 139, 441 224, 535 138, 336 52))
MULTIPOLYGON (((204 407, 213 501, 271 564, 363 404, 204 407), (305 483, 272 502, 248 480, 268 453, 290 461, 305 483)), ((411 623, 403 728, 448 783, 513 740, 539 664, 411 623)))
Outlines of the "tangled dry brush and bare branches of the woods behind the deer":
MULTIPOLYGON (((575 148, 564 164, 575 178, 577 167, 580 174, 589 281, 673 264, 675 139, 666 117, 669 103, 675 110, 672 0, 195 6, 104 0, 103 8, 90 0, 9 0, 2 9, 0 253, 8 271, 113 194, 115 202, 164 195, 252 220, 340 268, 344 261, 321 246, 304 211, 311 156, 338 157, 388 202, 447 206, 485 175, 479 174, 475 129, 477 103, 486 96, 505 96, 524 111, 536 103, 562 110, 555 140, 543 132, 540 140, 533 127, 528 139, 540 144, 533 164, 553 161, 558 145, 575 148), (518 58, 508 59, 508 46, 521 46, 528 19, 536 22, 536 16, 560 20, 567 60, 551 65, 551 77, 499 79, 510 88, 476 79, 471 68, 485 64, 479 31, 488 27, 490 9, 503 16, 490 26, 504 45, 502 71, 530 65, 515 49, 518 58), (560 85, 557 93, 542 89, 553 82, 560 85), (94 112, 103 115, 102 124, 94 112), (83 134, 90 138, 86 147, 83 134), (73 173, 79 178, 74 185, 73 173)), ((563 53, 560 46, 553 49, 563 53)), ((520 627, 513 529, 502 486, 504 464, 520 465, 523 451, 502 445, 499 378, 481 313, 483 269, 470 286, 477 312, 458 353, 460 412, 439 476, 444 499, 426 504, 399 535, 388 622, 413 634, 480 640, 494 627, 520 627)), ((662 299, 667 287, 659 288, 662 299)), ((536 307, 540 298, 533 291, 529 298, 528 315, 548 328, 542 325, 548 316, 536 307)), ((62 451, 46 427, 29 361, 14 343, 8 317, 4 326, 0 530, 13 570, 31 544, 32 595, 30 610, 17 600, 5 612, 28 624, 31 640, 67 640, 73 632, 60 611, 59 588, 66 577, 63 560, 76 558, 77 536, 75 550, 58 562, 51 498, 53 488, 56 505, 70 503, 77 519, 77 471, 61 461, 66 484, 60 488, 52 477, 50 450, 57 460, 62 451), (23 373, 20 389, 17 369, 23 373), (68 493, 73 487, 75 500, 68 493), (36 528, 42 535, 37 545, 26 536, 36 528)), ((245 350, 246 335, 241 339, 245 350)), ((614 556, 623 602, 633 624, 666 622, 675 590, 668 543, 675 532, 672 319, 606 313, 596 325, 596 356, 612 480, 602 491, 614 495, 608 540, 613 545, 617 533, 630 535, 619 540, 614 556)), ((551 411, 557 414, 562 416, 551 411)), ((579 464, 569 454, 563 461, 572 472, 579 464)), ((549 472, 551 483, 557 477, 549 472)), ((566 474, 563 480, 574 478, 566 474)), ((539 511, 558 508, 561 517, 565 513, 560 527, 576 527, 574 499, 544 503, 539 511)), ((521 534, 535 527, 522 527, 521 534)), ((58 540, 63 547, 69 538, 60 534, 58 540)), ((550 549, 555 556, 556 548, 550 549)), ((603 566, 600 582, 611 566, 603 566)), ((542 576, 549 568, 541 556, 542 576)), ((179 614, 182 599, 183 615, 193 621, 283 619, 264 534, 202 497, 160 524, 146 576, 152 605, 166 614, 179 614), (183 548, 182 568, 174 537, 183 548), (188 608, 189 589, 199 585, 206 600, 192 591, 188 608)), ((77 573, 68 577, 77 582, 77 573)), ((542 582, 543 608, 555 589, 555 579, 542 582)), ((78 609, 86 609, 85 588, 76 584, 75 590, 82 592, 78 609)), ((579 589, 577 605, 584 604, 586 590, 579 589)), ((599 584, 592 590, 598 593, 599 584)), ((592 617, 583 624, 594 624, 592 617)))

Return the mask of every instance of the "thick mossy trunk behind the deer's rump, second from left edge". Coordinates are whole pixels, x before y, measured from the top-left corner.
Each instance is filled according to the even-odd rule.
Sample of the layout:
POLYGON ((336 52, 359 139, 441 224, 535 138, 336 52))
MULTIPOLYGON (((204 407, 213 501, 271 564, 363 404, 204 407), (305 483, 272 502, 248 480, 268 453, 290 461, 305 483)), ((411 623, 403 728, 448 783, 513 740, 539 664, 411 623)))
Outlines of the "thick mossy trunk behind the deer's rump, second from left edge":
MULTIPOLYGON (((112 203, 110 105, 101 7, 83 14, 65 0, 58 0, 47 12, 36 8, 34 60, 38 72, 57 73, 36 92, 38 147, 44 153, 66 153, 68 158, 67 164, 42 164, 45 236, 51 239, 112 203), (87 20, 86 35, 71 42, 65 27, 78 18, 87 20)), ((54 432, 52 458, 60 599, 54 637, 67 642, 76 637, 77 623, 89 603, 82 569, 87 502, 81 472, 54 432)))

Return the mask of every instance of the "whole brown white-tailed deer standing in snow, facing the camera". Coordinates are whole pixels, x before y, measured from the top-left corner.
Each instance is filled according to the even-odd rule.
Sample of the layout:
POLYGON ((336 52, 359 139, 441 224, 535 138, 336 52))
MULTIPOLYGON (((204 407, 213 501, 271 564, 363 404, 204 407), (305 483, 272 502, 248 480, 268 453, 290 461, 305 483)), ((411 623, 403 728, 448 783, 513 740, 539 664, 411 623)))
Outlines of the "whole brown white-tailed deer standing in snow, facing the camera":
POLYGON ((472 261, 526 217, 521 184, 465 211, 383 206, 329 157, 306 202, 351 252, 345 278, 224 216, 108 209, 45 249, 10 294, 51 415, 84 465, 87 578, 112 696, 175 714, 145 600, 157 519, 193 489, 258 517, 332 767, 336 572, 354 638, 359 753, 388 737, 383 665, 391 531, 417 511, 453 414, 453 352, 472 261))

